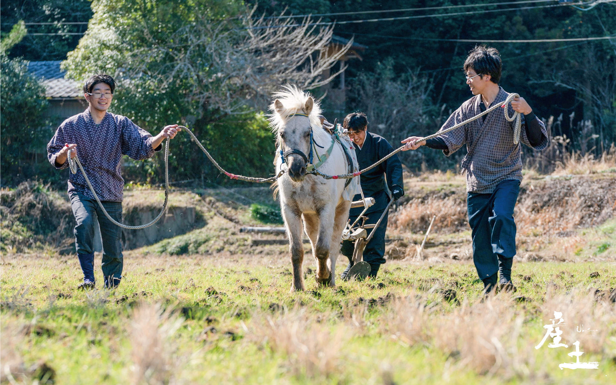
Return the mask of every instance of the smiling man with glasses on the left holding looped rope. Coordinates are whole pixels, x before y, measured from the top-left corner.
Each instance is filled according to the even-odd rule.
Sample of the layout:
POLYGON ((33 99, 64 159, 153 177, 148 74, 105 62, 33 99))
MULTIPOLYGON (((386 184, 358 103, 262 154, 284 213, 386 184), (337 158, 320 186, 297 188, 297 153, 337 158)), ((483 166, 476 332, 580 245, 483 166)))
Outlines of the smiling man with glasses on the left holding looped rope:
MULTIPOLYGON (((86 80, 83 91, 88 108, 60 124, 47 144, 47 157, 56 169, 68 167, 68 150, 79 161, 103 207, 111 218, 122 221, 124 179, 120 161, 128 155, 137 161, 152 157, 163 147, 164 138, 173 138, 180 130, 167 125, 152 137, 126 116, 108 113, 116 83, 105 74, 86 80), (77 154, 78 152, 78 154, 77 154)), ((103 244, 102 271, 105 287, 116 287, 122 278, 122 229, 103 214, 87 186, 81 171, 68 174, 68 196, 77 225, 75 247, 84 279, 78 288, 94 288, 94 226, 98 220, 103 244)))

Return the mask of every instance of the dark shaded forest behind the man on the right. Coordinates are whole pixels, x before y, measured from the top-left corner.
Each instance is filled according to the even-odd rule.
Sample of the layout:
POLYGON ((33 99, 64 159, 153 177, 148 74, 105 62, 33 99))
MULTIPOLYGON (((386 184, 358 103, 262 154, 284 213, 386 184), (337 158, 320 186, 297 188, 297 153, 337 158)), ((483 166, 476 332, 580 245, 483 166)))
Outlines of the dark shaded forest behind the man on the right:
MULTIPOLYGON (((253 4, 256 2, 251 1, 253 4)), ((342 0, 303 3, 295 0, 258 2, 258 12, 274 15, 288 8, 293 14, 320 14, 327 12, 357 12, 388 9, 413 9, 445 7, 462 4, 487 4, 494 0, 342 0)), ((521 4, 519 7, 546 4, 521 4)), ((439 39, 561 39, 614 36, 616 34, 616 7, 599 4, 582 11, 572 6, 524 9, 488 14, 468 14, 449 17, 415 18, 339 24, 334 34, 344 38, 355 36, 355 41, 368 46, 363 60, 349 60, 346 71, 347 84, 353 79, 379 77, 379 66, 391 58, 397 76, 411 71, 425 77, 432 85, 426 100, 433 111, 431 132, 436 131, 439 114, 447 115, 471 97, 461 71, 464 58, 476 42, 454 42, 439 39), (431 40, 436 39, 436 40, 431 40), (443 108, 443 109, 441 109, 443 108)), ((406 17, 476 10, 514 8, 485 6, 423 11, 383 12, 323 16, 324 21, 362 20, 372 18, 406 17)), ((525 97, 538 116, 548 119, 563 114, 559 132, 572 138, 571 149, 579 150, 588 137, 588 147, 595 146, 599 153, 616 141, 616 42, 614 40, 538 43, 486 43, 496 47, 503 58, 501 85, 508 92, 525 97), (575 113, 573 119, 567 115, 575 113), (585 130, 578 122, 588 119, 593 130, 585 130), (572 124, 569 124, 569 121, 572 124), (586 135, 590 135, 586 137, 586 135)), ((352 91, 355 93, 355 91, 352 91)), ((352 95, 351 95, 352 96, 352 95)), ((365 108, 365 101, 352 98, 347 102, 349 112, 365 108)), ((384 108, 387 108, 384 106, 384 108)), ((333 117, 329 117, 333 119, 333 117)), ((421 132, 421 127, 417 127, 421 132)), ((428 152, 429 149, 419 151, 428 152)), ((430 164, 437 167, 442 164, 430 164)))

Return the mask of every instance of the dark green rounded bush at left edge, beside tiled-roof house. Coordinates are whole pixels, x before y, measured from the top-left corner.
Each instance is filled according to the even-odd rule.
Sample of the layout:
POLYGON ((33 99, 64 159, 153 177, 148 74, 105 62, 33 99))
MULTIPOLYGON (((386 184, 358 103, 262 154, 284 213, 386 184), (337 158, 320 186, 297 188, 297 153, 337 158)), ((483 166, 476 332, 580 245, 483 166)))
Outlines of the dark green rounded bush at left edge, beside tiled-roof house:
POLYGON ((6 38, 2 39, 0 54, 0 171, 2 185, 33 175, 39 149, 49 136, 49 127, 43 117, 47 107, 43 85, 28 73, 28 62, 7 56, 20 37, 23 38, 23 22, 18 23, 6 38))

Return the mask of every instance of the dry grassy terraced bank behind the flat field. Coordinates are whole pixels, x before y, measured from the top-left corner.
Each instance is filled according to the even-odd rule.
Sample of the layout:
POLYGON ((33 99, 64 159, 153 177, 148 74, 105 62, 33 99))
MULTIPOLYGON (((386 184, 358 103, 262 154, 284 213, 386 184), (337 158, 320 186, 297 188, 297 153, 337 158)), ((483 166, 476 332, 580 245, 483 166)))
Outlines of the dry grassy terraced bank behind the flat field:
MULTIPOLYGON (((436 218, 423 258, 471 258, 464 177, 405 173, 405 189, 390 213, 387 258, 414 258, 432 216, 436 218)), ((24 183, 2 190, 1 199, 4 252, 74 253, 73 218, 64 193, 24 183)), ((147 223, 163 200, 162 190, 125 191, 124 222, 147 223)), ((282 226, 277 205, 267 186, 173 189, 166 215, 145 231, 124 232, 125 248, 142 255, 284 254, 283 234, 240 232, 243 226, 282 226)), ((611 170, 562 176, 527 173, 515 213, 517 258, 614 259, 615 211, 616 173, 611 170)))

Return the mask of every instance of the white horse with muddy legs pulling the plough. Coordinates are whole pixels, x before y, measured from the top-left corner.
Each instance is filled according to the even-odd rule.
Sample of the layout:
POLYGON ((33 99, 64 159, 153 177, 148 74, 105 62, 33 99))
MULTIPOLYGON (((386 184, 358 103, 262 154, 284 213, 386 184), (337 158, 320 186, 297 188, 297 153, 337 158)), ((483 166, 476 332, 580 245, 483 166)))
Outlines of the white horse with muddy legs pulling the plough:
MULTIPOLYGON (((286 170, 278 178, 278 189, 293 263, 291 292, 306 288, 302 272, 302 227, 306 229, 312 244, 312 255, 317 260, 318 284, 333 287, 336 284, 336 259, 340 252, 342 230, 349 218, 349 207, 359 178, 353 178, 351 189, 345 191, 346 180, 325 180, 307 173, 311 146, 314 163, 317 163, 318 156, 322 157, 334 141, 321 125, 318 117, 321 109, 309 93, 292 85, 283 87, 274 94, 274 98, 270 105, 273 114, 269 120, 272 130, 277 133, 276 174, 286 170)), ((347 156, 342 145, 349 146, 347 151, 355 163, 351 141, 342 140, 342 145, 334 142, 330 156, 318 170, 329 175, 347 173, 347 156)))

